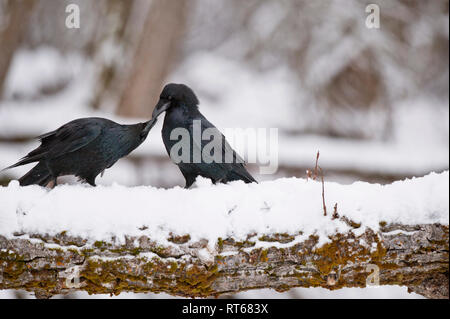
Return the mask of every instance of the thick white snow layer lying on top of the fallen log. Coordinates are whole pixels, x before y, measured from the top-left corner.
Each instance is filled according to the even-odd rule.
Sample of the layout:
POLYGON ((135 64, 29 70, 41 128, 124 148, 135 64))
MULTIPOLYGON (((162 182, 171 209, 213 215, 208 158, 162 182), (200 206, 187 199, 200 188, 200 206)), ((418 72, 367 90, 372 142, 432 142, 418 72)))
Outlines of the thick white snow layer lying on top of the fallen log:
MULTIPOLYGON (((448 171, 390 185, 326 182, 326 205, 329 215, 337 203, 340 216, 361 223, 358 232, 366 227, 376 231, 380 221, 448 225, 448 182, 448 171)), ((219 237, 243 240, 251 233, 289 233, 297 234, 295 243, 315 234, 321 245, 329 235, 348 230, 344 222, 323 216, 321 183, 299 178, 227 185, 199 178, 192 189, 113 184, 49 190, 20 187, 17 181, 0 187, 0 235, 7 237, 66 231, 90 241, 115 236, 123 242, 125 235, 147 235, 170 245, 170 233, 190 234, 192 241, 207 239, 211 252, 219 237)), ((209 252, 201 257, 209 258, 209 252)))

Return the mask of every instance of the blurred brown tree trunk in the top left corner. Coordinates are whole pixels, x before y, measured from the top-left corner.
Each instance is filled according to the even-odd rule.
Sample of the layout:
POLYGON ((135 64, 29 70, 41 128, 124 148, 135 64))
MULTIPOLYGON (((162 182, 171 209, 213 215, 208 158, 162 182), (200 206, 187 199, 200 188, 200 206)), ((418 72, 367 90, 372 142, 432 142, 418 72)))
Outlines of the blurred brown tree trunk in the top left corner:
POLYGON ((34 4, 34 0, 6 1, 6 23, 0 26, 0 98, 11 60, 27 30, 34 4))

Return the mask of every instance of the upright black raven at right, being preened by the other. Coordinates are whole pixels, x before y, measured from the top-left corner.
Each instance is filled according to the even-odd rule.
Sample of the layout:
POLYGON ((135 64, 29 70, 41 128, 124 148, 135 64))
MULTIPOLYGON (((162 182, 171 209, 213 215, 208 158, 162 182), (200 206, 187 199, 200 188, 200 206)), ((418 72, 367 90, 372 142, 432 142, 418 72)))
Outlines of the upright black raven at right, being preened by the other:
MULTIPOLYGON (((213 183, 236 180, 256 182, 222 133, 200 113, 198 104, 197 97, 188 86, 171 83, 164 87, 152 115, 152 120, 156 121, 161 113, 166 112, 162 139, 167 153, 186 179, 185 187, 189 188, 197 176, 210 178, 213 183), (185 157, 177 151, 180 146, 177 144, 182 142, 177 138, 183 130, 189 135, 189 153, 185 157)), ((181 153, 184 151, 182 148, 181 153)))

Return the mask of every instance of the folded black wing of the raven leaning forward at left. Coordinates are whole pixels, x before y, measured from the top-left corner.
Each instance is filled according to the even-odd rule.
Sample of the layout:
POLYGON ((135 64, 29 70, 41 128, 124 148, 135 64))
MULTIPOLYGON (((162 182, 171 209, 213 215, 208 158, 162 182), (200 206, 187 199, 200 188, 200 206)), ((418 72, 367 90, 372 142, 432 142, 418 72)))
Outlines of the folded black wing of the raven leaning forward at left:
POLYGON ((37 162, 44 157, 58 158, 75 152, 95 140, 102 132, 102 128, 102 123, 94 118, 78 119, 64 124, 55 131, 38 136, 41 145, 5 169, 37 162))

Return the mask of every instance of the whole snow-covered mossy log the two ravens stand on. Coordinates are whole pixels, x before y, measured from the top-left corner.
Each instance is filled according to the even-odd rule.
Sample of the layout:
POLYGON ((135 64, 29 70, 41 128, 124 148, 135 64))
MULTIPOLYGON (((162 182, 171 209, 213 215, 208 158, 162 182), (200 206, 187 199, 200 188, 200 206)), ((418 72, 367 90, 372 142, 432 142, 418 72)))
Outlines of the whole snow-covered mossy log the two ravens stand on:
POLYGON ((448 298, 449 174, 164 190, 0 188, 0 289, 217 296, 402 285, 448 298))

